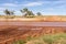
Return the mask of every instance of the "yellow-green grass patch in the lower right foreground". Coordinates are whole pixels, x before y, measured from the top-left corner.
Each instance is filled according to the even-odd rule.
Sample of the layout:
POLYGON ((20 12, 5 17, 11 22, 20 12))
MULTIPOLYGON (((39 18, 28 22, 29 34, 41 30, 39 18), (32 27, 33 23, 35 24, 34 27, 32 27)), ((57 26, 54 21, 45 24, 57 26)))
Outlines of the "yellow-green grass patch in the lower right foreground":
POLYGON ((66 44, 66 33, 46 34, 38 37, 32 37, 29 41, 18 41, 18 44, 20 44, 20 42, 22 44, 66 44))

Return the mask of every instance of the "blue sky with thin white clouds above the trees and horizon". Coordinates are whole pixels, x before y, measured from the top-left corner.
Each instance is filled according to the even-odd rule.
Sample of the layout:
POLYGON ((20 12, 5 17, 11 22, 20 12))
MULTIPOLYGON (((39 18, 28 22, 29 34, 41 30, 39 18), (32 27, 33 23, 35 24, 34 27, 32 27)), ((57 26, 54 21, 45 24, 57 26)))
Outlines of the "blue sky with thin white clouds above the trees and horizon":
POLYGON ((66 15, 66 0, 0 0, 0 14, 4 10, 22 14, 20 10, 28 8, 33 13, 41 12, 43 15, 66 15))

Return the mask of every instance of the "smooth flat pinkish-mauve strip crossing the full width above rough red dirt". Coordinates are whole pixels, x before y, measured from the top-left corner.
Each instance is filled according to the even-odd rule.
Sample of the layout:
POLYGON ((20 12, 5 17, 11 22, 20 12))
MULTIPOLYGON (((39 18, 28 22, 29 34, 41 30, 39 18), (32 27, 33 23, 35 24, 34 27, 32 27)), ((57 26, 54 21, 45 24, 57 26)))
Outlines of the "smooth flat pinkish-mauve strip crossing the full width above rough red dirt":
POLYGON ((0 25, 66 26, 66 22, 0 22, 0 25))

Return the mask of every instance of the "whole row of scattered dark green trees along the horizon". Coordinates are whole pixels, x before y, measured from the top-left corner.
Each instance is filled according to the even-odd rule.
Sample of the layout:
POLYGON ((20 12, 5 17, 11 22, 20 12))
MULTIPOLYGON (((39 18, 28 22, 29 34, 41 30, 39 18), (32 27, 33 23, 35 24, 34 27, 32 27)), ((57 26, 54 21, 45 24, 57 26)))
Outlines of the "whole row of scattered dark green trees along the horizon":
MULTIPOLYGON (((6 9, 3 12, 6 13, 6 18, 9 18, 10 15, 11 15, 11 18, 14 18, 13 15, 15 15, 15 13, 14 13, 15 11, 10 11, 10 10, 8 10, 8 9, 6 9)), ((43 16, 41 12, 37 12, 36 15, 35 15, 35 14, 34 14, 32 11, 30 11, 28 8, 24 8, 24 9, 22 9, 22 10, 20 10, 20 12, 22 13, 22 16, 23 16, 23 18, 35 18, 36 15, 37 15, 37 16, 43 16)), ((1 16, 1 15, 0 15, 0 16, 1 16)))

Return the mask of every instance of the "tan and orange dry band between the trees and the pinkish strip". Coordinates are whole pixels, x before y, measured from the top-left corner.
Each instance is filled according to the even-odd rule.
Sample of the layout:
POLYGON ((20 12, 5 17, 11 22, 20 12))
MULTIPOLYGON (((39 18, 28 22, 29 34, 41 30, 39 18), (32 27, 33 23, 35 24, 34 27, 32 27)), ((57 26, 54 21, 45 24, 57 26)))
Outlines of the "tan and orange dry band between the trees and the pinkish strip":
POLYGON ((0 21, 66 21, 65 15, 44 15, 34 18, 23 18, 22 15, 0 15, 0 21))

